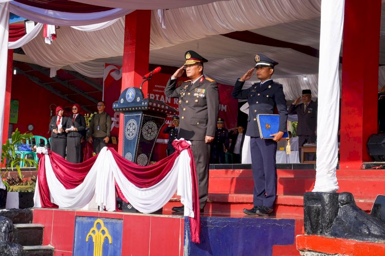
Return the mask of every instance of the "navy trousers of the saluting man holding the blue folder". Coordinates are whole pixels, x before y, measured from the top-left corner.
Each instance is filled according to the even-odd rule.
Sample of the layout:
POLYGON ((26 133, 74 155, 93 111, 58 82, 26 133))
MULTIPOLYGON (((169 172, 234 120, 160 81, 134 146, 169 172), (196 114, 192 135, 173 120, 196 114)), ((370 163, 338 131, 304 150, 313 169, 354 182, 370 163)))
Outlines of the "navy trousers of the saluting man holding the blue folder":
POLYGON ((277 142, 272 139, 252 137, 250 139, 253 179, 254 206, 273 208, 277 196, 277 142))

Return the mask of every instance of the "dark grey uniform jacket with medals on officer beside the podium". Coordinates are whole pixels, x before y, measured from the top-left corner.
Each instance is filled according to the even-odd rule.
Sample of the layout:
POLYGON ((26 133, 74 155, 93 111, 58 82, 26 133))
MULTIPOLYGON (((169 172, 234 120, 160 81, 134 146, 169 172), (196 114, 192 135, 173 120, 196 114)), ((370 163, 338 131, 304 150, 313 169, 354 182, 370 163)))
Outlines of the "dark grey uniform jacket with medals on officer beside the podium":
POLYGON ((202 76, 192 86, 188 80, 176 88, 177 80, 168 80, 164 94, 179 98, 178 138, 205 141, 206 135, 214 137, 219 111, 217 82, 202 76))

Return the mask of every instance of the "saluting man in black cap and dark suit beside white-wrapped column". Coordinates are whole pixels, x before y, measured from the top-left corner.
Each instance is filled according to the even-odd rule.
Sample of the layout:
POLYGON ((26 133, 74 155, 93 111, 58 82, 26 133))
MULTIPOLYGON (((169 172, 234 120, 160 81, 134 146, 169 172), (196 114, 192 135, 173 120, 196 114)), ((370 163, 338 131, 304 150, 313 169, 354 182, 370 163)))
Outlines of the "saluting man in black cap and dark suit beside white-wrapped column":
MULTIPOLYGON (((298 145, 303 146, 305 143, 316 143, 317 132, 317 103, 312 100, 312 91, 302 90, 302 97, 298 97, 289 107, 288 113, 290 115, 297 114, 297 136, 298 145), (303 103, 299 103, 302 98, 303 103)), ((301 148, 299 148, 299 156, 301 156, 301 148)), ((311 156, 315 160, 315 155, 311 156)))

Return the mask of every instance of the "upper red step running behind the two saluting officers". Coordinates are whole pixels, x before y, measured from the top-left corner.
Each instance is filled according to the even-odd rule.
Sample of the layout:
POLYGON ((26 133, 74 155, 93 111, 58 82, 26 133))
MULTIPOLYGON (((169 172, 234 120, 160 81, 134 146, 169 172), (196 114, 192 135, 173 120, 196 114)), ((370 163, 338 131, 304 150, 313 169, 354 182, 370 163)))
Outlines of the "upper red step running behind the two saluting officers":
MULTIPOLYGON (((303 195, 311 191, 315 183, 315 170, 277 170, 278 195, 303 195)), ((356 198, 374 199, 385 194, 383 170, 337 170, 338 192, 349 191, 356 198)), ((210 170, 209 193, 252 194, 254 181, 252 170, 210 170)))

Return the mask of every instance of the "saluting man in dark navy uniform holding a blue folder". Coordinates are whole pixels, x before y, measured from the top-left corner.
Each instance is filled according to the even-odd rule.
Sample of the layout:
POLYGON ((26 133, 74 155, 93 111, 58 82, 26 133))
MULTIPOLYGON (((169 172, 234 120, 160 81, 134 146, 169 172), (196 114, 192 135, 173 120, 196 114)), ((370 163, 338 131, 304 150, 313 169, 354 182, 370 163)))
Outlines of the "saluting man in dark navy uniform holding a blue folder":
POLYGON ((243 209, 247 215, 267 216, 272 214, 277 195, 277 141, 286 132, 287 108, 282 84, 274 82, 271 77, 278 62, 263 54, 254 58, 255 68, 248 70, 237 80, 233 97, 247 99, 249 114, 246 135, 251 137, 250 148, 254 179, 254 207, 243 209), (254 83, 251 88, 242 90, 243 84, 250 79, 256 70, 257 78, 261 81, 254 83), (273 114, 274 107, 279 114, 279 132, 272 134, 273 139, 261 139, 257 123, 258 114, 273 114))

